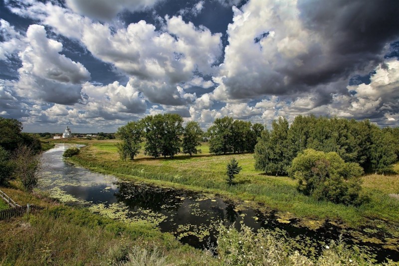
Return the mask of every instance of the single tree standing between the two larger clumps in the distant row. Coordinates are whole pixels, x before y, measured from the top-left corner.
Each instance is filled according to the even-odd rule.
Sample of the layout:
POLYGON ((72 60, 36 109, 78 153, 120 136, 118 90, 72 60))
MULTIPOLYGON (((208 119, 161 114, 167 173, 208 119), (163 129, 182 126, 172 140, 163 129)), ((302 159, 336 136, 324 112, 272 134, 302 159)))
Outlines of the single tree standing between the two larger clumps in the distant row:
POLYGON ((203 131, 198 122, 188 122, 183 133, 183 153, 188 153, 190 156, 192 156, 193 153, 200 153, 201 150, 197 149, 197 146, 201 145, 202 134, 203 131))

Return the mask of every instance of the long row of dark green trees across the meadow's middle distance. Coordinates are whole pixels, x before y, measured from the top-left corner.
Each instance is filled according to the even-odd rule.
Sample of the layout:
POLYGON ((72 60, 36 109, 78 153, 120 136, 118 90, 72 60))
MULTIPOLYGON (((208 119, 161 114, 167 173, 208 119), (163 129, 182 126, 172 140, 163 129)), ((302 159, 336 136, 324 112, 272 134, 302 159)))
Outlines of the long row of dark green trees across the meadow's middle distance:
POLYGON ((263 129, 259 123, 223 117, 216 118, 205 133, 195 121, 183 127, 183 118, 178 114, 149 115, 118 128, 122 142, 116 146, 123 160, 133 160, 144 140, 144 154, 155 158, 197 154, 203 138, 209 141, 209 151, 214 154, 253 152, 263 129))

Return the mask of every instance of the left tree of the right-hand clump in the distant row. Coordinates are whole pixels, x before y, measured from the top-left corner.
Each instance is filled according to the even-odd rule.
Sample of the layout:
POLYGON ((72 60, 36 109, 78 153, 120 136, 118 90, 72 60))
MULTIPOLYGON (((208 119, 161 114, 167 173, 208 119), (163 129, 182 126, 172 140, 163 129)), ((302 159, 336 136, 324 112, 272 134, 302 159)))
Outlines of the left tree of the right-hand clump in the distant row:
POLYGON ((214 154, 226 154, 233 150, 232 138, 233 119, 225 116, 216 118, 208 129, 209 151, 214 154))

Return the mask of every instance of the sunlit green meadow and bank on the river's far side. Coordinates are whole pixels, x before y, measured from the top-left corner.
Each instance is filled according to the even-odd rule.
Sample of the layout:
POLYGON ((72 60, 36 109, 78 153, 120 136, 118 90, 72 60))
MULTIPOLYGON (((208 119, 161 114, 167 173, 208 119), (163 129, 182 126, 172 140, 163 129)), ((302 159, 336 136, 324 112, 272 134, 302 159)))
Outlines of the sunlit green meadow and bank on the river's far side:
POLYGON ((399 193, 399 175, 365 176, 363 193, 370 203, 361 207, 316 201, 297 192, 297 181, 288 177, 266 176, 254 169, 252 154, 211 155, 206 144, 193 157, 178 155, 174 159, 154 159, 139 154, 134 161, 119 159, 113 141, 96 141, 84 147, 72 160, 93 171, 113 174, 126 180, 220 194, 230 199, 247 200, 278 210, 285 217, 314 220, 341 220, 349 226, 361 226, 371 220, 399 221, 399 201, 389 196, 399 193), (242 171, 236 185, 225 181, 225 166, 236 158, 242 171))

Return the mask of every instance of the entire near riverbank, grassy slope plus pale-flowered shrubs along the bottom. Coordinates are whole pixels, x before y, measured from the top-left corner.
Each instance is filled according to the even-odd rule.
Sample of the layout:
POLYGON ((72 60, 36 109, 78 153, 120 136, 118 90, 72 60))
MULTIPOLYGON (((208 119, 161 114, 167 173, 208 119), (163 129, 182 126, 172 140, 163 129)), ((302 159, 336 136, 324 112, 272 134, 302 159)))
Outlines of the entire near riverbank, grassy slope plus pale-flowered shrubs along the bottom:
MULTIPOLYGON (((1 188, 20 204, 45 209, 0 221, 0 265, 371 265, 342 244, 330 244, 317 261, 290 254, 286 247, 260 230, 242 232, 220 226, 218 257, 183 246, 172 235, 146 224, 124 224, 87 209, 68 207, 18 189, 1 188)), ((397 265, 390 262, 387 265, 397 265)))

